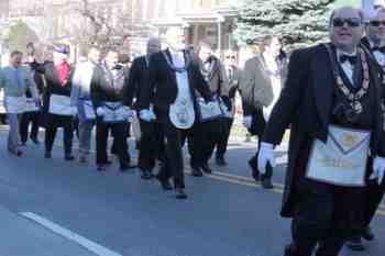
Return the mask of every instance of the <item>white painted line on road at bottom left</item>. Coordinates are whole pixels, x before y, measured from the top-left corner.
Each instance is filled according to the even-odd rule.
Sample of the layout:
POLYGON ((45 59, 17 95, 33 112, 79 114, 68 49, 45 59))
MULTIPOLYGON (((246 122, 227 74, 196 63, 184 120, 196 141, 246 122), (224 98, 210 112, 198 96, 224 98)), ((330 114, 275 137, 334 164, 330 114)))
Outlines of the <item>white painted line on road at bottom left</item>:
POLYGON ((119 253, 116 253, 109 248, 106 248, 92 241, 89 241, 85 237, 82 237, 81 235, 78 235, 65 227, 62 227, 57 224, 55 224, 54 222, 44 219, 43 216, 40 216, 33 212, 22 212, 20 213, 21 215, 23 215, 24 218, 32 220, 33 222, 36 222, 37 224, 44 226, 45 229, 69 240, 75 242, 76 244, 80 245, 81 247, 95 253, 98 256, 122 256, 119 253))

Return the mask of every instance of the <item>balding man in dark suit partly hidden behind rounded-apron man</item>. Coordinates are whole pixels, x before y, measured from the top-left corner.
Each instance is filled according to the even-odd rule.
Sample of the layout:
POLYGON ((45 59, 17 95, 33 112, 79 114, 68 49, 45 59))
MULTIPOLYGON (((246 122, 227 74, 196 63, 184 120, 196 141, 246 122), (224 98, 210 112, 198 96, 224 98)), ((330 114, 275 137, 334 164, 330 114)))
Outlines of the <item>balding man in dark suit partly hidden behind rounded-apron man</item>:
MULTIPOLYGON (((147 42, 147 54, 133 60, 129 84, 124 89, 124 99, 128 100, 127 105, 132 105, 133 98, 139 100, 141 91, 145 87, 146 77, 148 76, 150 57, 161 52, 161 42, 157 37, 151 37, 147 42)), ((134 103, 138 109, 138 102, 134 103)), ((142 179, 151 179, 152 170, 155 167, 160 144, 160 125, 155 120, 145 122, 140 120, 141 140, 139 143, 139 163, 138 166, 142 171, 142 179)))

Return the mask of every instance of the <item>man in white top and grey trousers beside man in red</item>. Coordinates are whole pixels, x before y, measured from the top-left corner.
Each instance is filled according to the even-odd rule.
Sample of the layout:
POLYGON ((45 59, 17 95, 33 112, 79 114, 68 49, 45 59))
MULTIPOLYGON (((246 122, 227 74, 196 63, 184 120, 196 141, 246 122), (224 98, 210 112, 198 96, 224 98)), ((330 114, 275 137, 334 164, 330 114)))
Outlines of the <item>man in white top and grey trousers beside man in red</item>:
POLYGON ((100 62, 100 51, 91 47, 88 51, 88 59, 77 64, 73 77, 70 104, 78 108, 79 119, 79 162, 87 163, 91 144, 91 132, 96 120, 94 105, 90 98, 91 80, 95 79, 95 67, 100 62))

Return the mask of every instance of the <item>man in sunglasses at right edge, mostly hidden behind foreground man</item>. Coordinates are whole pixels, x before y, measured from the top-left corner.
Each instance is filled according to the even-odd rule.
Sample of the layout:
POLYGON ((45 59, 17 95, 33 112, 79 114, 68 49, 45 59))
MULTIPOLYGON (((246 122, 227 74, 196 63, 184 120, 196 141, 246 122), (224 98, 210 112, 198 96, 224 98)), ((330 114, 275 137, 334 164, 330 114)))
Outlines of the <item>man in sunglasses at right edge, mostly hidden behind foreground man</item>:
MULTIPOLYGON (((361 41, 371 53, 372 59, 377 64, 378 73, 382 74, 382 84, 385 86, 385 9, 376 8, 372 16, 367 16, 366 36, 361 41)), ((371 177, 366 191, 366 207, 364 215, 364 227, 361 235, 355 235, 346 242, 349 248, 353 251, 363 251, 362 237, 366 241, 373 241, 374 234, 370 223, 384 197, 385 183, 378 185, 376 177, 371 177)))

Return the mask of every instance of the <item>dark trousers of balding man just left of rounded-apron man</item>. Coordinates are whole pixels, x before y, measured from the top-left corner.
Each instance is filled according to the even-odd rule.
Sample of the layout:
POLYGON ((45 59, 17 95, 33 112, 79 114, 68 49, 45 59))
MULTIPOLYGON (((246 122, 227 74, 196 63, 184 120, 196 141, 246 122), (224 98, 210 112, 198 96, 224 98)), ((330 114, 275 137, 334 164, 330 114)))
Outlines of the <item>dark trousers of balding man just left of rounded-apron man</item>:
POLYGON ((161 125, 157 122, 140 121, 141 141, 139 144, 138 166, 142 170, 152 170, 155 167, 156 158, 160 159, 163 147, 161 125))

